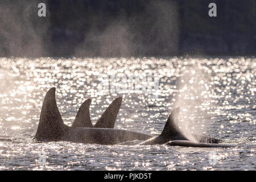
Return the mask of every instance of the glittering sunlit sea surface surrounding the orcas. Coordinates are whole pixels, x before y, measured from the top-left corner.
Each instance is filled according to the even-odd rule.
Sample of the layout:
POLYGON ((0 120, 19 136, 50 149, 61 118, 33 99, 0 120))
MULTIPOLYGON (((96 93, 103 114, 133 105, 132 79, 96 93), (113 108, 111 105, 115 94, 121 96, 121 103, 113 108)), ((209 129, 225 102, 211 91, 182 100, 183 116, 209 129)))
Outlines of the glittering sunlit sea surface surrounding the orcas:
POLYGON ((255 170, 255 78, 254 57, 0 58, 0 170, 255 170), (159 135, 179 106, 185 135, 234 147, 36 142, 53 86, 69 126, 86 98, 95 123, 122 96, 116 129, 159 135))

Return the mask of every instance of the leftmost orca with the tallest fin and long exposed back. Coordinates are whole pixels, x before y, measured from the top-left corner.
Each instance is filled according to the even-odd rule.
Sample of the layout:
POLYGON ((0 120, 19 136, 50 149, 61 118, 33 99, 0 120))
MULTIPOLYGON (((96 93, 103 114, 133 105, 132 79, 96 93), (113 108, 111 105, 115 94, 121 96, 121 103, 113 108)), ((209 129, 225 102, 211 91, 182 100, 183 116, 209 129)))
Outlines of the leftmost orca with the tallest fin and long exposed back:
MULTIPOLYGON (((38 130, 35 139, 38 141, 58 141, 95 143, 95 144, 118 144, 131 140, 146 140, 150 135, 128 130, 69 127, 64 124, 55 99, 56 88, 51 88, 44 97, 40 114, 38 130)), ((89 101, 88 101, 89 102, 89 101)), ((86 102, 88 104, 88 102, 86 102)), ((108 115, 108 114, 107 114, 108 115)), ((106 121, 106 119, 102 119, 106 121)))

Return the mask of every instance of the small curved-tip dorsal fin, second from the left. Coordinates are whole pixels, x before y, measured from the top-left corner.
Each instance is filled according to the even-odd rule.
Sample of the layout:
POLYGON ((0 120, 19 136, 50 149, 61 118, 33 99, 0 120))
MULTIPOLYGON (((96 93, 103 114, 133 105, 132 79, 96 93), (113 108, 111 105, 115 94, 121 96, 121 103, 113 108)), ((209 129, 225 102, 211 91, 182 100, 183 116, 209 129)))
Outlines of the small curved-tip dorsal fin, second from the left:
POLYGON ((90 120, 90 103, 92 100, 88 98, 82 103, 79 108, 79 111, 76 114, 75 121, 72 124, 72 127, 93 127, 92 121, 90 120))

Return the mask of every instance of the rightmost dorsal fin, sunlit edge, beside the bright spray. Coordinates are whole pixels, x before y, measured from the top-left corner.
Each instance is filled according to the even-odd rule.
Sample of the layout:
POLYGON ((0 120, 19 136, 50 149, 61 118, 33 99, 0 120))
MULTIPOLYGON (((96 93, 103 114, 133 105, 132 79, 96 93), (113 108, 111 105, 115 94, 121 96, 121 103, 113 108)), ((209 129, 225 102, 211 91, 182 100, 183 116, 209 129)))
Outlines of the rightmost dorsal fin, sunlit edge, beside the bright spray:
POLYGON ((164 125, 164 129, 162 131, 162 133, 160 134, 161 137, 163 137, 164 139, 168 140, 168 139, 175 139, 180 138, 180 137, 184 137, 183 134, 181 134, 179 127, 177 126, 177 119, 179 117, 179 112, 180 112, 180 108, 177 107, 174 110, 172 110, 171 114, 169 115, 166 125, 164 125))

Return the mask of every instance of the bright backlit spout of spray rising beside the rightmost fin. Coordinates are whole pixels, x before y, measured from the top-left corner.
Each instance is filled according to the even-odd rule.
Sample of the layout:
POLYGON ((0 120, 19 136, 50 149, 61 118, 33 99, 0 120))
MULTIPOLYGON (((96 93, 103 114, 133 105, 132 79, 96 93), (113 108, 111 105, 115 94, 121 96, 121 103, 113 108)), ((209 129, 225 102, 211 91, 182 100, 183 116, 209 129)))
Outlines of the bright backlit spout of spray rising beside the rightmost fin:
POLYGON ((215 105, 212 92, 210 69, 205 69, 199 59, 185 59, 185 65, 191 65, 181 69, 180 77, 177 79, 177 93, 174 94, 175 106, 181 108, 179 126, 181 132, 189 140, 199 142, 200 137, 195 134, 206 134, 205 117, 209 114, 205 110, 214 110, 215 105), (189 63, 191 61, 192 63, 189 63))

